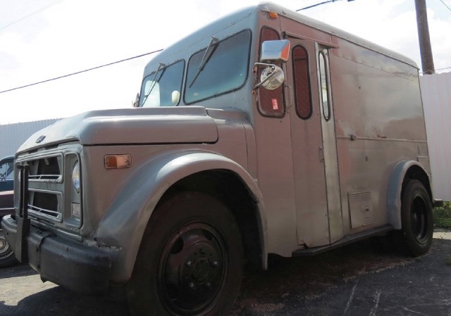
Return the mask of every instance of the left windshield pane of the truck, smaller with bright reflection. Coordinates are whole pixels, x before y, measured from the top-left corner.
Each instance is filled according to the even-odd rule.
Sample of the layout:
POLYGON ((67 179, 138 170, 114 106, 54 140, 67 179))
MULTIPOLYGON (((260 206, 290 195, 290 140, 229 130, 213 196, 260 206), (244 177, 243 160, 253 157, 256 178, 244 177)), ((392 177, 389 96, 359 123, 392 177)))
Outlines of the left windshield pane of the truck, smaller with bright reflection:
POLYGON ((161 65, 142 82, 140 106, 143 108, 177 106, 180 101, 185 61, 161 65))

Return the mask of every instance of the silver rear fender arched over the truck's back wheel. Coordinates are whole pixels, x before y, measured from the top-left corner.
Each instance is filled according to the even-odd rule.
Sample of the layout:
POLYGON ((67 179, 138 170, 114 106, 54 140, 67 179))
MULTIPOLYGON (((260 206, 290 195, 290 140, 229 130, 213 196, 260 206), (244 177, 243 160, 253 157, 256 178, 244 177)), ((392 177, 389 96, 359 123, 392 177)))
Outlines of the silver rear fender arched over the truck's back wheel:
POLYGON ((395 165, 392 174, 390 175, 390 180, 388 182, 387 191, 387 212, 388 212, 388 223, 395 229, 401 229, 401 191, 402 182, 407 174, 407 171, 413 166, 417 166, 424 171, 425 175, 428 172, 423 168, 423 166, 414 160, 402 160, 395 165))

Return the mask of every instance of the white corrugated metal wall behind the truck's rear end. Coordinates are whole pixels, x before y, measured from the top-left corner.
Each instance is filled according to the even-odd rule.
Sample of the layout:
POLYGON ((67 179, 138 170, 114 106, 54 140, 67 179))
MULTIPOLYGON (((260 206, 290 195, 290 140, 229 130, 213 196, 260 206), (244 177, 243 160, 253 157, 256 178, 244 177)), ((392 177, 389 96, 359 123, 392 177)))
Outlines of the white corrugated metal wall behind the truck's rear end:
POLYGON ((451 201, 451 72, 420 79, 433 193, 451 201))

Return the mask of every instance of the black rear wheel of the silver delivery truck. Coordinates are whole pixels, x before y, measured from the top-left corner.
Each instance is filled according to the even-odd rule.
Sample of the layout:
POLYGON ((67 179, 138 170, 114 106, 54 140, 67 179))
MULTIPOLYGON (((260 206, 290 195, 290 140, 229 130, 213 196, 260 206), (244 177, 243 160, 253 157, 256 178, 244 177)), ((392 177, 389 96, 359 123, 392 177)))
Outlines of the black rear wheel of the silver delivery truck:
POLYGON ((401 200, 402 243, 410 255, 428 252, 433 234, 431 198, 418 180, 409 180, 401 200))

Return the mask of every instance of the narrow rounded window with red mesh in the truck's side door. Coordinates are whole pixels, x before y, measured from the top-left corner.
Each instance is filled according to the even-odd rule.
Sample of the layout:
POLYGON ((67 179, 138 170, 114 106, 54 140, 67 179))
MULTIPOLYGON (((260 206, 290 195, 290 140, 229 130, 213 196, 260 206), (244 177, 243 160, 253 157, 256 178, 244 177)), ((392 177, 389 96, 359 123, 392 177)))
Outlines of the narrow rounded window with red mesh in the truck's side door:
POLYGON ((311 117, 311 91, 309 78, 309 58, 307 50, 297 45, 292 50, 293 73, 295 75, 296 112, 299 118, 311 117))

